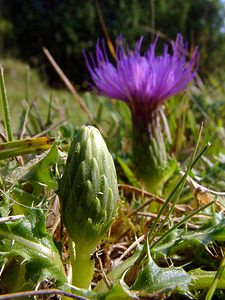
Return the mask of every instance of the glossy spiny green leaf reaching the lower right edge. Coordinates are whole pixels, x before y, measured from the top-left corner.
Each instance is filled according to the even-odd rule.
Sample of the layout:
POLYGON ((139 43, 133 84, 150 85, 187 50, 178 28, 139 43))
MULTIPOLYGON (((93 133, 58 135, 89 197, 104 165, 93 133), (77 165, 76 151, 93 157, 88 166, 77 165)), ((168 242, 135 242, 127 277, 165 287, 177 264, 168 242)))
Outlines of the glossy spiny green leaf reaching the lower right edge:
POLYGON ((154 254, 170 257, 175 264, 188 263, 188 270, 203 265, 208 270, 215 270, 218 267, 217 260, 211 259, 210 249, 213 249, 215 243, 224 242, 225 222, 222 214, 211 215, 210 209, 205 214, 209 220, 206 218, 199 228, 188 232, 185 229, 174 230, 154 248, 154 254))

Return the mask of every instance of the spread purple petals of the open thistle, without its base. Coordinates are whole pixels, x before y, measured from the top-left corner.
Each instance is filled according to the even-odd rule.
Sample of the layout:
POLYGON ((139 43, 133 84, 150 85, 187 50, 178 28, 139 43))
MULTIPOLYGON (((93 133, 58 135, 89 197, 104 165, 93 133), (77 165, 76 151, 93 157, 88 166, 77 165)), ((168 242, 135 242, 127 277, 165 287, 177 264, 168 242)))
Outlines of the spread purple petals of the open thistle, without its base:
POLYGON ((90 60, 84 53, 86 65, 95 88, 104 96, 126 102, 135 110, 138 106, 152 109, 167 98, 183 90, 195 76, 198 50, 194 50, 190 61, 186 61, 186 49, 181 34, 172 42, 172 54, 165 45, 161 56, 155 53, 157 38, 145 54, 140 48, 143 38, 136 43, 134 51, 124 49, 122 37, 116 51, 116 63, 109 61, 104 41, 98 40, 96 58, 90 60))

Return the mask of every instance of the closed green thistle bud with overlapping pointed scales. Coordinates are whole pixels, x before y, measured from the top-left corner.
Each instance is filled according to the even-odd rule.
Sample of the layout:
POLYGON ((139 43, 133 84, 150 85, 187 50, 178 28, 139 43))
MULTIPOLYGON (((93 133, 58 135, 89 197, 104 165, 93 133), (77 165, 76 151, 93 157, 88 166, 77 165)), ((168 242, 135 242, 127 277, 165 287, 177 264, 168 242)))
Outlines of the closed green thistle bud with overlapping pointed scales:
POLYGON ((91 253, 111 225, 118 199, 114 162, 95 127, 82 126, 77 132, 58 193, 70 238, 91 253))

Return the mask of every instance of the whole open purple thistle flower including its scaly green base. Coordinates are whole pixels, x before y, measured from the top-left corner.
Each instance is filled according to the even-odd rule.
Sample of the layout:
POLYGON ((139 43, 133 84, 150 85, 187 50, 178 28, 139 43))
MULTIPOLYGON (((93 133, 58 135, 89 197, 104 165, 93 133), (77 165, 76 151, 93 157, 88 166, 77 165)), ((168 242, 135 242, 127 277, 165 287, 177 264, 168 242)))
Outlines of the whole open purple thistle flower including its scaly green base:
POLYGON ((145 54, 140 53, 143 37, 132 51, 123 47, 119 37, 115 64, 109 61, 104 41, 98 40, 96 57, 85 61, 94 88, 106 97, 127 103, 133 123, 133 159, 142 182, 152 192, 161 194, 163 184, 176 169, 176 161, 166 152, 159 106, 169 97, 184 90, 193 80, 199 53, 195 48, 189 61, 181 34, 164 46, 161 56, 155 54, 158 38, 145 54))

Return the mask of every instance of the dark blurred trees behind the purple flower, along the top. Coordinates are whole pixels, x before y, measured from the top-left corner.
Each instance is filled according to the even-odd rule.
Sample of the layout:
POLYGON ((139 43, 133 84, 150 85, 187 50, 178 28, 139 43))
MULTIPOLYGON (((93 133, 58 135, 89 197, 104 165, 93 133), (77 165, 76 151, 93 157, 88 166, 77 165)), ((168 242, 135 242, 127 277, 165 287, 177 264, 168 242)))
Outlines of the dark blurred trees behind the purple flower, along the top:
MULTIPOLYGON (((98 1, 114 42, 122 33, 131 45, 144 35, 143 50, 158 34, 174 39, 181 32, 192 50, 200 48, 200 74, 221 79, 225 67, 225 7, 222 0, 98 1)), ((96 1, 0 0, 0 55, 20 58, 38 67, 49 83, 60 80, 49 63, 45 46, 73 83, 88 78, 82 49, 93 51, 103 37, 96 1)))

